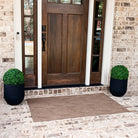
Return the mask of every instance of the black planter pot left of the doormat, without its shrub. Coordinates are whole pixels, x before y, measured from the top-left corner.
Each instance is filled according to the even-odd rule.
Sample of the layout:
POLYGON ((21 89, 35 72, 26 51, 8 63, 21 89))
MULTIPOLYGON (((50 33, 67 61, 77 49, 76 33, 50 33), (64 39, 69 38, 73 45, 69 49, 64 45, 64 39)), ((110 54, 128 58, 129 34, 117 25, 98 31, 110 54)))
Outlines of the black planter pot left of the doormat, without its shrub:
POLYGON ((24 99, 24 84, 4 84, 4 99, 9 105, 19 105, 24 99))

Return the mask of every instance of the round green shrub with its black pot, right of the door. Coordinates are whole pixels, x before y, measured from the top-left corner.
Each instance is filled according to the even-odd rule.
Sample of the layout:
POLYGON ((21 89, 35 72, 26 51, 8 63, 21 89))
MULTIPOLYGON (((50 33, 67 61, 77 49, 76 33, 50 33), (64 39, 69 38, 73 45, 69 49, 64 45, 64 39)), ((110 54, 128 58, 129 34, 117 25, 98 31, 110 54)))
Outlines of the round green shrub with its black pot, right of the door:
POLYGON ((110 92, 114 96, 121 97, 127 91, 129 71, 123 65, 117 65, 111 70, 110 92))

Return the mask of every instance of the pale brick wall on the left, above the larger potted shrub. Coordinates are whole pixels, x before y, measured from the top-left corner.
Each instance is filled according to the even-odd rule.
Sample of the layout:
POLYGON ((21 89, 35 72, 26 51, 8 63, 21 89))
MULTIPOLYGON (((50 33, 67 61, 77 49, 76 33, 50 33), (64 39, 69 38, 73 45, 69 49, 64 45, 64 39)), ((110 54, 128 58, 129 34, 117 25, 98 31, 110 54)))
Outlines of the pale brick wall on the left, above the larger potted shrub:
POLYGON ((14 51, 13 0, 0 0, 0 88, 4 72, 14 67, 14 51))

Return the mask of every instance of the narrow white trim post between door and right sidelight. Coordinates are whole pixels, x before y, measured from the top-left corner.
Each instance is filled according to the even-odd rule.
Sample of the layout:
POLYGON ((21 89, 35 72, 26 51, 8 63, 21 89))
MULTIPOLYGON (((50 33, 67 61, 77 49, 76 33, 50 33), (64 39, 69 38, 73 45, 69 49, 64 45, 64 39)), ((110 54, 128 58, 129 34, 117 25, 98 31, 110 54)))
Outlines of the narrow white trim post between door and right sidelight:
POLYGON ((85 85, 90 85, 94 0, 89 1, 85 85))

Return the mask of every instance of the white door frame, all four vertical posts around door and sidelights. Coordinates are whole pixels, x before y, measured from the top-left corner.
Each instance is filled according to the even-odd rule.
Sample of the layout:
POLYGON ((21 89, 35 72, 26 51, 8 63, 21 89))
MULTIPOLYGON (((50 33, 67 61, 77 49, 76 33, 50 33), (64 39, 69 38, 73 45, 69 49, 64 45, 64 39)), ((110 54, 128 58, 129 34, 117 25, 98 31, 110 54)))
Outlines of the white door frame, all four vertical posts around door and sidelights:
MULTIPOLYGON (((42 88, 42 0, 38 0, 38 88, 42 88)), ((111 66, 112 53, 112 35, 114 19, 115 0, 106 2, 106 18, 104 32, 104 48, 102 60, 102 80, 101 83, 108 85, 111 66), (111 8, 112 7, 112 8, 111 8)), ((85 85, 90 85, 90 67, 91 67, 91 44, 93 32, 93 10, 94 0, 89 1, 88 35, 87 35, 87 53, 86 53, 86 73, 85 85)), ((15 67, 22 70, 22 30, 21 30, 21 0, 14 0, 14 43, 15 43, 15 67), (17 34, 19 32, 19 34, 17 34)))

